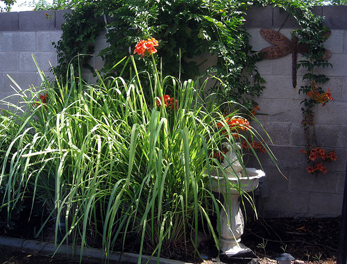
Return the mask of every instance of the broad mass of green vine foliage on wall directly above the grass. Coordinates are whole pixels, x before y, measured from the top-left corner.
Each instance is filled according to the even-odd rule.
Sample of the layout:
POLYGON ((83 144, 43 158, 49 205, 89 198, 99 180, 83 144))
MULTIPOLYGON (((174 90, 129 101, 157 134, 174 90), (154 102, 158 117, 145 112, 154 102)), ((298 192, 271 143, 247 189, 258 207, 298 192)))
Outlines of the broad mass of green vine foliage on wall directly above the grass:
MULTIPOLYGON (((197 76, 201 65, 191 59, 210 53, 217 56, 217 64, 204 74, 217 74, 223 80, 223 85, 217 82, 212 88, 213 92, 217 92, 219 104, 232 100, 250 109, 256 104, 252 97, 262 93, 264 79, 255 66, 260 58, 251 53, 249 35, 242 27, 244 11, 251 3, 226 0, 122 0, 94 1, 90 5, 97 6, 95 15, 115 18, 107 25, 109 29, 106 38, 110 47, 99 53, 105 60, 104 74, 117 76, 117 73, 111 71, 112 66, 128 55, 129 51, 133 53, 139 40, 154 37, 160 40, 158 55, 164 75, 171 74, 182 79, 197 76), (246 99, 243 95, 250 97, 246 99)), ((99 30, 99 22, 90 17, 85 6, 78 6, 67 21, 71 26, 62 28, 62 40, 57 46, 60 59, 56 72, 59 74, 67 69, 69 60, 80 52, 78 48, 83 49, 80 53, 92 53, 90 42, 99 30), (86 35, 85 26, 78 24, 83 13, 84 17, 89 18, 88 25, 95 34, 88 35, 87 41, 78 42, 76 40, 81 39, 79 35, 82 38, 86 35)), ((137 66, 139 69, 149 69, 143 60, 138 61, 137 66)), ((129 72, 124 74, 129 76, 129 72)), ((230 106, 226 106, 225 110, 230 111, 230 106)))

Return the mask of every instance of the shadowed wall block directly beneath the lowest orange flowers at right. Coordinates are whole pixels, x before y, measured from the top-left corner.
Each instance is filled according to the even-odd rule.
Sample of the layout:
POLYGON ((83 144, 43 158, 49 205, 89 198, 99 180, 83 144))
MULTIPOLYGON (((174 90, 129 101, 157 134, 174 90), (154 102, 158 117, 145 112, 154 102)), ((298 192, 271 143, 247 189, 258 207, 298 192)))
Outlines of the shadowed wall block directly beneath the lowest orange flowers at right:
MULTIPOLYGON (((302 154, 302 158, 306 159, 302 154)), ((324 163, 323 163, 324 165, 324 163)), ((320 192, 334 193, 336 190, 335 172, 328 171, 326 174, 310 174, 306 167, 301 170, 291 170, 289 177, 289 190, 292 192, 320 192)))

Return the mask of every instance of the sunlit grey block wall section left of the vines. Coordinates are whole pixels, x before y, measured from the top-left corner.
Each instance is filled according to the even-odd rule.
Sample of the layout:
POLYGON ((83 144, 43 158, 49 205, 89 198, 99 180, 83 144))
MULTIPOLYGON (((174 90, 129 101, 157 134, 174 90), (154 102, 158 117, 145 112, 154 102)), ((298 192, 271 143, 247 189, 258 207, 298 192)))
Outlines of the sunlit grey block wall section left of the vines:
POLYGON ((40 68, 47 76, 51 65, 57 63, 56 49, 52 42, 58 42, 62 34, 61 24, 65 22, 64 10, 0 13, 0 98, 12 94, 15 79, 22 89, 41 83, 32 58, 35 56, 40 68), (47 17, 45 15, 49 15, 47 17))

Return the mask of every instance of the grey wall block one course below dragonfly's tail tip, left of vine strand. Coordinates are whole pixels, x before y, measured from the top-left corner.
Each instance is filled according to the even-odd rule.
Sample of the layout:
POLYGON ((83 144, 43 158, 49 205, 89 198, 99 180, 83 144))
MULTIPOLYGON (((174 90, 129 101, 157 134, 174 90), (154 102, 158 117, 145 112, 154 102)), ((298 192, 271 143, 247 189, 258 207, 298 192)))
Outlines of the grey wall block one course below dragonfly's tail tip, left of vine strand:
POLYGON ((271 99, 270 117, 273 122, 301 122, 301 105, 299 100, 294 99, 271 99))

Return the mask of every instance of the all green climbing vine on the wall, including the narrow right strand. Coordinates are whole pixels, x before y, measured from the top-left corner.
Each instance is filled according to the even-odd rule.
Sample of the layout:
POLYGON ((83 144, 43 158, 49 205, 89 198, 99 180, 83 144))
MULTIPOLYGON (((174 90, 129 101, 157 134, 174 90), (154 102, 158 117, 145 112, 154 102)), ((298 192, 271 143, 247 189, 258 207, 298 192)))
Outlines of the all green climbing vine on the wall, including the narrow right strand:
MULTIPOLYGON (((71 14, 66 17, 67 22, 62 26, 62 39, 56 44, 58 66, 54 70, 63 76, 69 63, 77 65, 76 55, 92 54, 96 36, 107 28, 106 38, 110 46, 99 53, 105 61, 102 72, 119 74, 113 66, 124 56, 133 53, 134 45, 139 40, 153 37, 160 40, 158 58, 162 58, 160 62, 164 74, 182 79, 197 76, 200 65, 185 58, 210 53, 211 56, 217 56, 217 63, 205 74, 215 74, 222 81, 212 87, 219 104, 234 101, 248 110, 253 110, 257 105, 256 97, 260 97, 265 88, 265 81, 256 67, 256 63, 262 60, 262 55, 252 51, 249 35, 244 28, 244 15, 248 8, 255 5, 279 7, 296 19, 300 29, 293 34, 298 36, 299 43, 305 43, 308 47, 305 59, 298 63, 298 67, 307 69, 304 76, 307 84, 303 85, 299 92, 309 96, 302 102, 306 138, 303 152, 307 155, 308 172, 325 172, 324 167, 319 167, 321 163, 317 161, 323 158, 323 154, 313 160, 311 155, 312 149, 319 147, 314 133, 314 104, 321 104, 319 98, 322 97, 326 104, 331 97, 319 87, 319 84, 325 83, 328 78, 314 73, 316 68, 330 66, 323 58, 323 43, 328 38, 324 34, 327 28, 323 26, 323 17, 312 13, 314 4, 314 1, 307 3, 301 0, 83 1, 74 6, 71 14), (103 19, 97 19, 105 15, 113 17, 113 21, 107 25, 103 19)), ((82 65, 92 70, 88 64, 89 59, 90 56, 80 58, 82 65)), ((146 60, 138 60, 137 66, 139 69, 148 67, 146 60)), ((224 110, 228 112, 235 105, 225 106, 224 110)), ((324 160, 331 161, 335 156, 332 157, 324 156, 324 160)))

